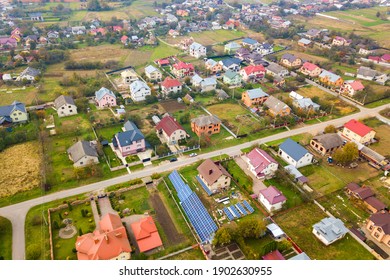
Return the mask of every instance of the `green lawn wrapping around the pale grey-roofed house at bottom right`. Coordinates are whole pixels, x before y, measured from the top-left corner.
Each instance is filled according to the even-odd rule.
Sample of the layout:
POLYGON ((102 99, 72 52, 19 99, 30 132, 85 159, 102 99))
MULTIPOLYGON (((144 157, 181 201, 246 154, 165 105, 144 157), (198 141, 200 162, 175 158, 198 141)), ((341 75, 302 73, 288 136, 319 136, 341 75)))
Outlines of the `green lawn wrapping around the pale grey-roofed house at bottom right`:
POLYGON ((313 203, 305 203, 290 211, 274 216, 277 224, 316 260, 372 260, 374 257, 347 234, 343 239, 325 246, 312 233, 312 226, 326 215, 313 203))

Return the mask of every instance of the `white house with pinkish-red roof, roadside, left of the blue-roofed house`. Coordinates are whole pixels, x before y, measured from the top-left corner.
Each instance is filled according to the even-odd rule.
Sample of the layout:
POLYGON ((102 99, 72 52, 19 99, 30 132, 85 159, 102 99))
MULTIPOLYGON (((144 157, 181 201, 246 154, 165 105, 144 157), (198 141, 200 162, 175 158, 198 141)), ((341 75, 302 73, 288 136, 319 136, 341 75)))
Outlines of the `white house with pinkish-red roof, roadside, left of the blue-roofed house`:
POLYGON ((278 170, 278 162, 262 149, 254 148, 246 155, 248 169, 257 179, 270 178, 278 170))

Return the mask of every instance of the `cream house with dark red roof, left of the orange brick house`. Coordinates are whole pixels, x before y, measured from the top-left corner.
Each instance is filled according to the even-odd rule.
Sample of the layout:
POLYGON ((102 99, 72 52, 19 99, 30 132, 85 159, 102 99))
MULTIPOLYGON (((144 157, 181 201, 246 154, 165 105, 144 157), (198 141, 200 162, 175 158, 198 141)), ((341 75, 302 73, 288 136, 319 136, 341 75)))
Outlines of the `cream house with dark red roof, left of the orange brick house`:
POLYGON ((168 145, 177 144, 187 137, 184 128, 171 116, 165 116, 156 126, 157 135, 168 145))

